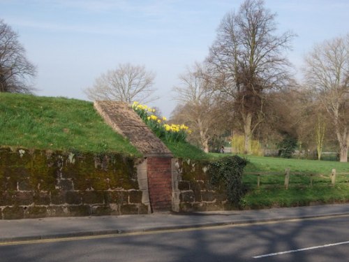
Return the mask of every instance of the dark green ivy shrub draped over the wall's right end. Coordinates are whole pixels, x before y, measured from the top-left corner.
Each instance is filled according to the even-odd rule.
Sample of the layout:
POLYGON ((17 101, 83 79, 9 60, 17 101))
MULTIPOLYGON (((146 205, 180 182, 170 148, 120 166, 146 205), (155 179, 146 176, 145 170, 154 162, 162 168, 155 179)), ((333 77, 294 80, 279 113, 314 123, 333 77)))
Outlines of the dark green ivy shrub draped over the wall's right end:
POLYGON ((227 191, 228 201, 237 208, 241 208, 242 172, 246 164, 247 160, 238 156, 222 157, 211 162, 209 168, 211 183, 214 185, 223 183, 227 191))

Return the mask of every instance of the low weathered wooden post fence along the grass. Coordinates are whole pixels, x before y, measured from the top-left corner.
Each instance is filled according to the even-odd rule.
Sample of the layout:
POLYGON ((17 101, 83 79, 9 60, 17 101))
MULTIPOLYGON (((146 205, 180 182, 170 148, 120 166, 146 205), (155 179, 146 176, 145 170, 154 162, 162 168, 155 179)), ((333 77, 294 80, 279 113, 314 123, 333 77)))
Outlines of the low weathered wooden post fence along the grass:
MULTIPOLYGON (((340 182, 349 183, 349 173, 337 173, 336 169, 332 169, 332 173, 328 174, 318 174, 318 173, 304 173, 304 172, 291 172, 290 168, 286 168, 285 172, 246 172, 244 173, 244 176, 248 175, 254 175, 257 177, 257 187, 259 188, 262 184, 261 177, 265 177, 268 175, 274 175, 278 176, 278 181, 276 181, 276 184, 280 184, 279 187, 285 187, 285 189, 288 189, 290 184, 292 184, 292 177, 295 177, 296 175, 298 177, 302 177, 301 182, 295 182, 294 184, 299 185, 302 184, 302 186, 309 185, 310 187, 313 187, 313 184, 316 180, 316 177, 320 177, 322 180, 325 180, 325 184, 329 184, 332 187, 336 184, 336 180, 338 180, 338 177, 342 177, 340 182), (280 176, 283 175, 283 185, 281 184, 280 176), (305 177, 309 177, 309 179, 306 179, 305 177), (343 179, 343 177, 345 177, 343 179), (347 179, 348 178, 348 179, 347 179)), ((267 182, 266 184, 270 184, 270 182, 267 182)), ((277 185, 274 187, 278 187, 277 185)))

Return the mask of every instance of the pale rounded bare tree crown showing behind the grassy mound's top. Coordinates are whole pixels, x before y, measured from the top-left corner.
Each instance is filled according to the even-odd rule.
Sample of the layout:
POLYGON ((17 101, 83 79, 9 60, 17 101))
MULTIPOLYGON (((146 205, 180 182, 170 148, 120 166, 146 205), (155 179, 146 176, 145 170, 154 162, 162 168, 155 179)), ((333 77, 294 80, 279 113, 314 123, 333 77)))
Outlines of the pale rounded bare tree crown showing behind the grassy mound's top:
POLYGON ((119 64, 118 68, 103 73, 94 82, 93 87, 84 90, 91 100, 112 100, 131 103, 149 103, 158 98, 151 97, 155 89, 154 73, 145 70, 145 66, 119 64))

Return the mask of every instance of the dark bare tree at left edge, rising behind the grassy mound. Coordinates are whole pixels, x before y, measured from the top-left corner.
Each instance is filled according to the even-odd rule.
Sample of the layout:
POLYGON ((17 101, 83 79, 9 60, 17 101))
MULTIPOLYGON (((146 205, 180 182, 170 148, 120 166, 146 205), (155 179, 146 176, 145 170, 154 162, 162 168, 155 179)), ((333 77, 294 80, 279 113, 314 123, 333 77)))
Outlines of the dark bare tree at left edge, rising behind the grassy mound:
POLYGON ((0 20, 0 92, 31 94, 35 75, 36 67, 28 61, 18 34, 0 20))

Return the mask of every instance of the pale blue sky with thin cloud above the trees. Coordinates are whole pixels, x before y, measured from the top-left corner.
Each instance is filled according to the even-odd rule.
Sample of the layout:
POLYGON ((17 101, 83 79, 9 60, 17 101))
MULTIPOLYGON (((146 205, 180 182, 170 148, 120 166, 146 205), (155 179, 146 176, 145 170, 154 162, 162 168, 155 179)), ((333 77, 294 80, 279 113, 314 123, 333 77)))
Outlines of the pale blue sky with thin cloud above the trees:
MULTIPOLYGON (((40 96, 87 100, 82 91, 118 64, 144 65, 156 73, 150 104, 170 117, 178 75, 207 57, 225 13, 242 0, 0 0, 0 19, 20 35, 38 68, 40 96)), ((349 0, 265 0, 280 32, 297 34, 290 61, 315 43, 349 33, 349 0)))

